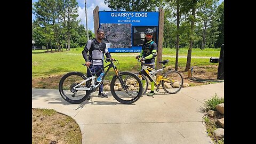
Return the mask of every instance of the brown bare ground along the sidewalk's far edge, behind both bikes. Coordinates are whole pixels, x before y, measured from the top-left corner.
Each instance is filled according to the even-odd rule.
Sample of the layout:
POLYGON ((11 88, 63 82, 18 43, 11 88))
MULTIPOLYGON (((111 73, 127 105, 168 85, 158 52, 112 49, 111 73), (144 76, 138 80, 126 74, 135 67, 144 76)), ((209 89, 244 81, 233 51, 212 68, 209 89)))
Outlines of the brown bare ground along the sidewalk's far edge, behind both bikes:
MULTIPOLYGON (((188 72, 185 72, 184 69, 185 68, 179 68, 178 71, 183 76, 184 83, 188 83, 190 86, 212 84, 219 81, 219 79, 217 79, 218 65, 209 65, 203 67, 194 66, 191 78, 188 78, 188 72)), ((63 75, 52 75, 45 78, 32 79, 32 87, 37 89, 58 89, 62 76, 63 75)))

